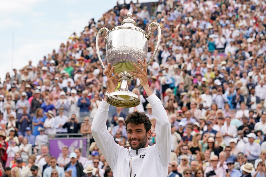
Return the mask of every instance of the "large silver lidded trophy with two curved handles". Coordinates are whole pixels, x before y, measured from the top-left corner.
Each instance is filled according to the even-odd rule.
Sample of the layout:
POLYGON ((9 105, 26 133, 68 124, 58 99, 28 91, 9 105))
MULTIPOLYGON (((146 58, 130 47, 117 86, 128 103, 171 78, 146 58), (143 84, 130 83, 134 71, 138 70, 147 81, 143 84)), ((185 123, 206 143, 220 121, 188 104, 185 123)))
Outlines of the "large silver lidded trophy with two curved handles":
POLYGON ((148 53, 148 40, 151 37, 151 27, 158 27, 158 40, 156 44, 155 51, 147 62, 147 67, 155 57, 161 38, 161 26, 157 22, 152 22, 149 24, 148 30, 146 33, 143 29, 136 27, 137 23, 135 20, 131 19, 131 12, 127 13, 127 19, 124 19, 121 22, 121 26, 117 26, 109 31, 107 28, 99 29, 96 37, 96 49, 97 56, 102 64, 103 69, 105 66, 102 62, 101 56, 99 55, 99 34, 106 30, 106 54, 107 54, 107 63, 111 64, 111 68, 114 66, 113 73, 117 73, 117 78, 120 81, 120 89, 118 91, 112 92, 107 96, 107 102, 116 107, 130 108, 135 107, 140 104, 140 98, 138 95, 128 91, 128 83, 135 76, 130 74, 130 71, 133 73, 139 73, 138 70, 132 65, 135 63, 139 68, 142 68, 142 65, 139 64, 138 59, 144 62, 148 53))

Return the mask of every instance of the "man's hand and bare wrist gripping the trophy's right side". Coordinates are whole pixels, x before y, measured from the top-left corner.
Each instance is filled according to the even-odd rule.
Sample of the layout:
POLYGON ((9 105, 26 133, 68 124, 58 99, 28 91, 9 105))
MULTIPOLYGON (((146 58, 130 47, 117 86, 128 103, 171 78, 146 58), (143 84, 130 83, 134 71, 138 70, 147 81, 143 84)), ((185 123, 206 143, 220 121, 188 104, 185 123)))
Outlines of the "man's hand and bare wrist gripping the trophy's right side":
POLYGON ((146 68, 147 60, 145 58, 144 63, 141 62, 140 60, 138 60, 138 62, 140 63, 140 65, 142 65, 143 70, 141 70, 135 63, 132 63, 132 65, 139 71, 139 74, 132 73, 131 71, 130 71, 130 74, 133 74, 139 78, 140 85, 142 85, 142 87, 146 91, 147 96, 150 96, 153 94, 153 92, 150 89, 149 84, 148 84, 148 73, 147 73, 147 68, 146 68))

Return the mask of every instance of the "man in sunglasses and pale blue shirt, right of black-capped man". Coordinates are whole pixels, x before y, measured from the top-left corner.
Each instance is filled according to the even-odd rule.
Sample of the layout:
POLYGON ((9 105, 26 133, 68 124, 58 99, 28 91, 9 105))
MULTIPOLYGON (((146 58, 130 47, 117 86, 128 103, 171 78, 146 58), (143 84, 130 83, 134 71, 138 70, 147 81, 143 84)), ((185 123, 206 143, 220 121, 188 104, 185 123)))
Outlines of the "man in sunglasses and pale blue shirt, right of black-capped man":
POLYGON ((56 158, 55 157, 50 158, 49 164, 50 164, 50 166, 45 168, 45 170, 43 171, 43 177, 54 176, 53 175, 53 173, 55 173, 54 170, 56 170, 59 177, 65 176, 64 168, 61 168, 61 167, 56 165, 56 158))

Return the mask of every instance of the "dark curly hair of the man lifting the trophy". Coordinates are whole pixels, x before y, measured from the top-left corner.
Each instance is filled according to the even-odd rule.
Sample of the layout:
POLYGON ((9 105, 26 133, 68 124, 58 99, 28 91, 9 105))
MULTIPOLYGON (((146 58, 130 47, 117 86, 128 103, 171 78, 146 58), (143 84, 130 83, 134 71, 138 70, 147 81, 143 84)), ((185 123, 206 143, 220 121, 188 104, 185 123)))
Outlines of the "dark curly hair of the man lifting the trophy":
POLYGON ((135 112, 132 112, 131 114, 128 114, 125 123, 126 123, 126 130, 127 130, 128 123, 131 123, 133 125, 144 124, 146 133, 151 129, 151 121, 149 120, 149 117, 146 116, 144 112, 135 111, 135 112))

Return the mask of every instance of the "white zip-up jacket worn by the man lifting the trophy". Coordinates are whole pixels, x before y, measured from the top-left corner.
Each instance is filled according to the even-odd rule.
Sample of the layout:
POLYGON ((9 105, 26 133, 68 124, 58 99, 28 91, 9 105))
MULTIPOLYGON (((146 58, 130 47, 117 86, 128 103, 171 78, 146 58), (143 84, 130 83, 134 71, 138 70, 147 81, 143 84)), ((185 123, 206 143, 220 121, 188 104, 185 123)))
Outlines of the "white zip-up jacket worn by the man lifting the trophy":
POLYGON ((171 126, 155 94, 147 98, 156 119, 156 144, 139 150, 115 143, 106 128, 109 104, 102 101, 92 122, 92 135, 115 177, 166 177, 171 153, 171 126))

